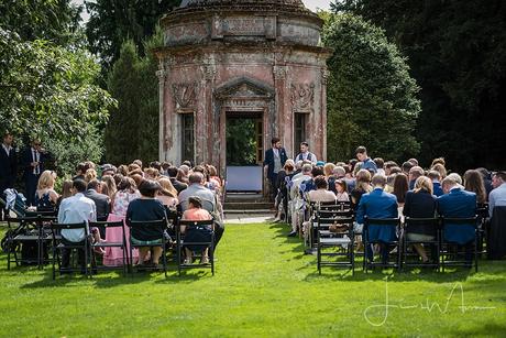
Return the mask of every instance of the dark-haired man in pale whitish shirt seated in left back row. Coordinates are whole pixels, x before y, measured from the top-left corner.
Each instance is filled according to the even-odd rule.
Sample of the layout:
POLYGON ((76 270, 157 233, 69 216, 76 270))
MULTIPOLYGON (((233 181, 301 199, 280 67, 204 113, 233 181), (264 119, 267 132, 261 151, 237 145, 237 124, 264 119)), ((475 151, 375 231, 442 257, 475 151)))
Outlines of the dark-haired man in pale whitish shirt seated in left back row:
MULTIPOLYGON (((58 223, 79 223, 97 220, 97 211, 95 203, 86 197, 86 182, 77 178, 73 183, 74 196, 62 200, 58 210, 58 223)), ((67 246, 84 244, 86 232, 84 229, 63 229, 62 242, 67 246)), ((78 262, 81 266, 81 272, 85 272, 85 252, 78 250, 78 262)), ((62 272, 70 265, 70 250, 62 249, 62 272)))

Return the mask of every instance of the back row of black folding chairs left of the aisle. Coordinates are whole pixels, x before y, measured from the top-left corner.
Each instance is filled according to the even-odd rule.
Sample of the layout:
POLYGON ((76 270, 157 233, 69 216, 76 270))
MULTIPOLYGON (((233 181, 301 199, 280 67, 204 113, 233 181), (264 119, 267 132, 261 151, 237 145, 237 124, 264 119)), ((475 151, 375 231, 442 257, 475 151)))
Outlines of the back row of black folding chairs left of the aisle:
MULTIPOLYGON (((84 272, 86 275, 91 276, 92 273, 98 272, 99 270, 110 270, 110 269, 121 269, 123 274, 127 274, 128 270, 134 271, 133 262, 133 250, 139 249, 145 246, 132 243, 131 236, 127 239, 125 236, 125 226, 123 221, 97 221, 97 222, 86 222, 80 223, 57 223, 56 216, 48 215, 50 212, 38 212, 32 216, 20 216, 15 218, 8 218, 8 236, 7 236, 7 253, 8 253, 8 270, 11 268, 11 263, 15 262, 16 265, 22 263, 36 263, 38 269, 47 263, 51 263, 53 266, 53 279, 56 276, 56 270, 62 272, 61 266, 61 253, 63 250, 70 250, 75 252, 79 250, 84 252, 85 255, 85 266, 84 272), (121 240, 119 241, 106 241, 103 242, 94 242, 90 236, 90 228, 120 228, 121 229, 121 240), (85 239, 82 242, 74 243, 68 242, 62 238, 62 230, 81 230, 85 231, 85 239), (129 244, 130 243, 130 244, 129 244), (23 259, 22 251, 23 247, 37 247, 36 258, 23 259), (97 262, 97 255, 95 250, 98 248, 120 248, 123 253, 123 264, 119 268, 110 268, 105 265, 99 265, 97 262), (51 251, 51 258, 50 258, 51 251), (21 257, 20 257, 21 255, 21 257), (57 269, 56 269, 57 268, 57 269)), ((177 271, 180 275, 182 270, 195 269, 195 268, 209 268, 212 275, 215 274, 215 231, 213 231, 213 220, 180 220, 179 216, 174 211, 168 215, 167 218, 155 220, 155 221, 130 221, 130 233, 132 229, 136 227, 151 227, 156 229, 160 233, 160 243, 153 244, 150 247, 161 247, 163 250, 162 254, 162 266, 164 274, 167 275, 167 249, 172 248, 174 250, 175 260, 177 263, 177 271), (185 241, 185 235, 182 233, 180 229, 185 226, 188 229, 191 227, 201 228, 210 227, 211 238, 209 241, 205 242, 187 242, 185 241), (174 246, 170 246, 173 243, 174 246), (183 260, 183 247, 189 244, 198 244, 204 247, 209 247, 209 264, 184 264, 183 260)), ((75 261, 75 257, 73 257, 75 261)), ((80 271, 80 266, 76 266, 67 270, 66 272, 76 272, 80 271)), ((151 269, 143 266, 143 269, 151 269)), ((156 269, 156 268, 153 268, 156 269)))

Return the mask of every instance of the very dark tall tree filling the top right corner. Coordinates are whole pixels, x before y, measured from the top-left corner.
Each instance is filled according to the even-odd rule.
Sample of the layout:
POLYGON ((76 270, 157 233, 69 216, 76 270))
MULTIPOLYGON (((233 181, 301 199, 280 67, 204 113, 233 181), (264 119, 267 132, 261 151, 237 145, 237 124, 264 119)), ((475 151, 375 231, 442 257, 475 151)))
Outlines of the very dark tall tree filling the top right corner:
POLYGON ((453 168, 506 167, 506 2, 342 0, 334 11, 385 29, 421 86, 421 159, 453 168))

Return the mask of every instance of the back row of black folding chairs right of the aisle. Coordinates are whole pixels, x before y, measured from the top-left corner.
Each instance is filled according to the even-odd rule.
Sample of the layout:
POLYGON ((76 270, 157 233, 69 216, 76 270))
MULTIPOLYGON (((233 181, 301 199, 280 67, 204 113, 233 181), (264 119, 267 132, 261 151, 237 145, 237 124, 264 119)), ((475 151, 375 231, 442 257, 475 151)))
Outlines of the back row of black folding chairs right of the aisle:
MULTIPOLYGON (((402 268, 425 266, 433 268, 438 271, 447 266, 470 266, 474 263, 477 271, 477 257, 482 253, 483 247, 482 221, 475 216, 472 218, 406 218, 404 222, 400 218, 392 219, 372 219, 365 218, 363 229, 358 231, 354 219, 354 212, 349 203, 339 204, 314 204, 310 206, 311 220, 309 233, 306 236, 306 244, 317 251, 318 272, 321 273, 322 266, 341 266, 355 270, 356 257, 363 258, 363 270, 367 272, 375 266, 402 268), (444 240, 443 231, 446 225, 466 226, 474 228, 474 239, 466 246, 457 246, 457 243, 444 240), (397 232, 397 239, 391 242, 371 240, 369 231, 371 225, 375 227, 391 227, 397 232), (422 225, 430 229, 432 235, 427 240, 410 240, 409 233, 417 225, 422 225), (363 250, 360 250, 359 238, 362 238, 363 250), (388 251, 387 261, 367 260, 367 248, 373 246, 386 246, 388 251), (430 260, 421 262, 413 246, 420 244, 430 248, 430 260), (332 259, 331 259, 332 258, 332 259), (463 259, 462 259, 463 258, 463 259)), ((372 251, 372 250, 371 250, 372 251)), ((371 252, 370 251, 370 252, 371 252)))

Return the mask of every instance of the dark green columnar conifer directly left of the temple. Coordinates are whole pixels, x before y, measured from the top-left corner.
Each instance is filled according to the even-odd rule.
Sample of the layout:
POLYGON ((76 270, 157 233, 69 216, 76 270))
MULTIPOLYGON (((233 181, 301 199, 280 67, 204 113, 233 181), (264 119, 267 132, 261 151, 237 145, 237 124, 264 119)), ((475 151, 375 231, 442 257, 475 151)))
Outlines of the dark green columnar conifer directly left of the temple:
MULTIPOLYGON (((146 50, 161 46, 160 30, 144 43, 146 50)), ((158 157, 158 80, 154 54, 141 57, 135 44, 127 41, 114 63, 108 88, 118 100, 106 128, 106 155, 112 163, 144 162, 158 157)))

